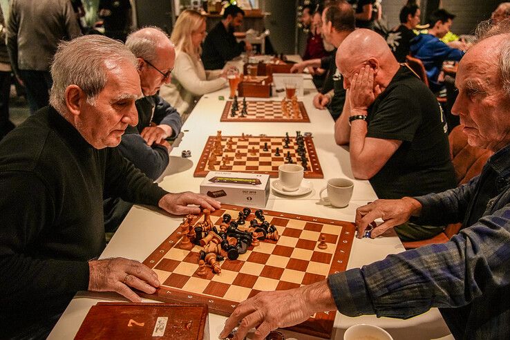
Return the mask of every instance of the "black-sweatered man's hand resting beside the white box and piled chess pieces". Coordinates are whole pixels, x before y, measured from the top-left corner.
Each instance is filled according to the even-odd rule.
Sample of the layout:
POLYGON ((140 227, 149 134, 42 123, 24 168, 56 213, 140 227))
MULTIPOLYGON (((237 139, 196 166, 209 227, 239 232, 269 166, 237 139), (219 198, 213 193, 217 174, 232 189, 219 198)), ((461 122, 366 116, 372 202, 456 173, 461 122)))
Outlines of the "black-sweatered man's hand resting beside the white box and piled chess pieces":
POLYGON ((182 193, 167 193, 160 199, 158 206, 173 215, 187 215, 200 214, 200 207, 214 211, 220 209, 221 204, 217 200, 200 193, 185 191, 182 193), (188 207, 188 205, 197 205, 198 207, 188 207))

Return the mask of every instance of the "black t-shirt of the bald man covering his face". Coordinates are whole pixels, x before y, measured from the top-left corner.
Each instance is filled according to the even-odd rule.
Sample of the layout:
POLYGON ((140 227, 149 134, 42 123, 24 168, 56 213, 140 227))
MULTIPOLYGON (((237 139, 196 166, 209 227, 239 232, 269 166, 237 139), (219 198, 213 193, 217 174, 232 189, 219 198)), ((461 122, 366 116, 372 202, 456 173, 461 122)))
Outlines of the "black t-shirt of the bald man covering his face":
POLYGON ((437 193, 456 186, 446 122, 433 93, 402 66, 368 108, 367 137, 401 140, 370 184, 379 198, 437 193))

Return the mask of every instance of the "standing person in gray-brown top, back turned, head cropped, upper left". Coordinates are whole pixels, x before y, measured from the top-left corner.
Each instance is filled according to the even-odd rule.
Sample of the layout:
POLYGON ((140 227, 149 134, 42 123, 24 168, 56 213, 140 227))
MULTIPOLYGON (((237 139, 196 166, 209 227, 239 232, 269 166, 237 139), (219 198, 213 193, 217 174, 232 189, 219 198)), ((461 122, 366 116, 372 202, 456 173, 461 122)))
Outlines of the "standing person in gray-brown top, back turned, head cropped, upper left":
POLYGON ((50 63, 61 40, 82 34, 69 0, 11 0, 7 48, 12 72, 25 86, 30 113, 48 105, 50 63))

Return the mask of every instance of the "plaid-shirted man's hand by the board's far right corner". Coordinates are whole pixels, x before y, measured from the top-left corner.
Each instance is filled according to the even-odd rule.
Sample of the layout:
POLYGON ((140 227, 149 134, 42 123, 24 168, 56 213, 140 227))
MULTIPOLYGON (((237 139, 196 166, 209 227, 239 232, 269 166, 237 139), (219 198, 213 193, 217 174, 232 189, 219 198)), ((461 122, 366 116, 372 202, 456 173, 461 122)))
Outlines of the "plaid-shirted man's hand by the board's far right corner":
POLYGON ((410 216, 419 216, 422 211, 422 204, 414 198, 404 197, 400 200, 375 200, 368 205, 356 209, 357 238, 365 235, 365 230, 377 218, 382 218, 381 223, 370 233, 370 238, 386 232, 386 230, 406 223, 410 216))

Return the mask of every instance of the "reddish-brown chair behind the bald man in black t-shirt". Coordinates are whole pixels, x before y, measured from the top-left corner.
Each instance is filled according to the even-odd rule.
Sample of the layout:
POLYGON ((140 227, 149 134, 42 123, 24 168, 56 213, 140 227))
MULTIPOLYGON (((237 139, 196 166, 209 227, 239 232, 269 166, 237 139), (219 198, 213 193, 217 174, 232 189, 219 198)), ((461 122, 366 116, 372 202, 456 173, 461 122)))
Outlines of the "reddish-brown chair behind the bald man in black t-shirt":
MULTIPOLYGON (((491 157, 492 152, 486 149, 471 147, 467 143, 467 137, 462 133, 461 126, 455 126, 448 135, 450 142, 450 154, 455 168, 455 176, 457 177, 457 185, 463 185, 469 182, 471 178, 478 176, 482 172, 487 159, 491 157)), ((403 242, 406 249, 415 249, 422 245, 431 245, 434 243, 446 243, 450 238, 457 234, 462 228, 461 223, 452 223, 447 225, 444 232, 428 238, 427 240, 417 240, 411 242, 403 242)))

